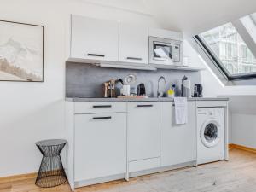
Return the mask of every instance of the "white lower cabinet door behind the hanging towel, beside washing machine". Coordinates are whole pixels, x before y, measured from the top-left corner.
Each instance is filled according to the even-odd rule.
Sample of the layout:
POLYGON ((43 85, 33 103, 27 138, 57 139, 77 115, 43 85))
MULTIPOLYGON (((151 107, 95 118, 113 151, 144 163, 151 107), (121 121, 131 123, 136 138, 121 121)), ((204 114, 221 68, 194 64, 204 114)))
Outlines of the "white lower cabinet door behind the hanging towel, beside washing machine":
POLYGON ((172 166, 196 158, 195 102, 188 102, 188 123, 176 125, 173 102, 160 104, 161 166, 172 166))

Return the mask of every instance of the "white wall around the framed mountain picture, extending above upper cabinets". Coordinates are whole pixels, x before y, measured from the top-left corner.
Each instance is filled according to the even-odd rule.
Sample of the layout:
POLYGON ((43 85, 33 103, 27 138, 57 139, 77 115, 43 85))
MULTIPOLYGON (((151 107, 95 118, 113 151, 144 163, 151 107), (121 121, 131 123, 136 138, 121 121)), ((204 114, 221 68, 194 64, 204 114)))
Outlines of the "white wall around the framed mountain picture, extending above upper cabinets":
POLYGON ((148 16, 79 0, 1 0, 0 20, 45 26, 44 83, 0 82, 0 177, 37 172, 38 140, 64 137, 65 52, 69 15, 157 26, 148 16))

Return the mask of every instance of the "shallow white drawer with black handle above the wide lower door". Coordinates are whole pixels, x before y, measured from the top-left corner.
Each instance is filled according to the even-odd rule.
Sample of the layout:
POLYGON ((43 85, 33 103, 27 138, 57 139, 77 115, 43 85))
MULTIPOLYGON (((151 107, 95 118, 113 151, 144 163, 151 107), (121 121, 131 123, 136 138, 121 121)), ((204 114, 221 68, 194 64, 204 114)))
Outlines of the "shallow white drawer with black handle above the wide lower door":
POLYGON ((126 102, 76 102, 76 114, 126 112, 126 102))

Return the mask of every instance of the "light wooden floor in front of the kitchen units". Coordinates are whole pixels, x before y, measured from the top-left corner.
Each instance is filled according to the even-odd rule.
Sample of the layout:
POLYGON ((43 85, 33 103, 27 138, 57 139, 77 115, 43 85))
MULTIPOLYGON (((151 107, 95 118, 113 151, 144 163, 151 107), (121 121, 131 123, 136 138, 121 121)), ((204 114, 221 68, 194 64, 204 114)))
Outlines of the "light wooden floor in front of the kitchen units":
MULTIPOLYGON (((40 189, 34 178, 2 181, 0 192, 70 192, 66 184, 40 189)), ((230 161, 189 167, 150 176, 132 178, 129 183, 118 181, 76 189, 77 192, 248 192, 256 191, 256 154, 240 149, 230 150, 230 161)))

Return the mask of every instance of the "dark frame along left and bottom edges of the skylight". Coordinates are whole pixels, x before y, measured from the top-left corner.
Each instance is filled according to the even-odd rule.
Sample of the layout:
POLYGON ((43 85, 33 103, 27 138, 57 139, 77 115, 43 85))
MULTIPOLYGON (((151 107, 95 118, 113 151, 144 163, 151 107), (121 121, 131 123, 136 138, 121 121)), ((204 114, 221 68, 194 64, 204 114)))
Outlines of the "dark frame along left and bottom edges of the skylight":
POLYGON ((209 59, 211 59, 214 66, 218 68, 218 71, 220 71, 228 81, 256 79, 256 72, 231 75, 224 67, 222 61, 219 60, 218 56, 214 54, 207 42, 205 42, 199 35, 195 35, 194 39, 196 44, 200 45, 201 49, 203 49, 209 59))

